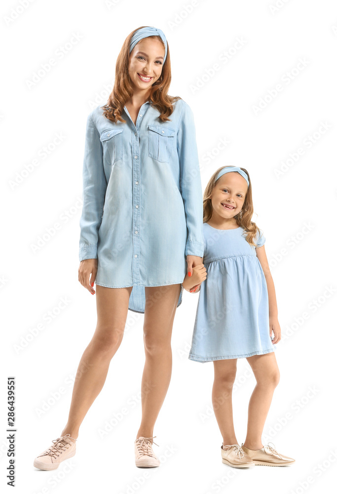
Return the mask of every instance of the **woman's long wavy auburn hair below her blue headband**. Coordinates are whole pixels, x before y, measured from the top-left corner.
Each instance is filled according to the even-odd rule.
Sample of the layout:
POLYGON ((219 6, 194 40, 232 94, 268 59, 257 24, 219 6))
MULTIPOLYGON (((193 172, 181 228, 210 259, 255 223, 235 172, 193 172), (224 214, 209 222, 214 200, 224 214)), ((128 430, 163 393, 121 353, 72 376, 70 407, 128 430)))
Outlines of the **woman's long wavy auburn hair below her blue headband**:
MULTIPOLYGON (((126 101, 128 101, 133 95, 133 85, 129 76, 130 42, 134 32, 144 27, 148 26, 141 26, 140 28, 135 29, 125 39, 116 60, 115 80, 112 92, 109 95, 108 103, 101 107, 104 110, 103 115, 108 120, 111 120, 114 123, 116 123, 117 121, 123 123, 126 122, 122 119, 121 114, 123 112, 126 101)), ((160 36, 149 36, 148 38, 159 40, 165 47, 160 36)), ((161 122, 167 122, 168 120, 170 120, 168 117, 173 112, 173 103, 178 99, 182 99, 180 96, 169 96, 167 94, 170 83, 171 61, 170 50, 167 44, 166 60, 163 64, 159 79, 152 84, 149 98, 152 106, 154 106, 154 108, 156 108, 160 113, 158 118, 161 122)))

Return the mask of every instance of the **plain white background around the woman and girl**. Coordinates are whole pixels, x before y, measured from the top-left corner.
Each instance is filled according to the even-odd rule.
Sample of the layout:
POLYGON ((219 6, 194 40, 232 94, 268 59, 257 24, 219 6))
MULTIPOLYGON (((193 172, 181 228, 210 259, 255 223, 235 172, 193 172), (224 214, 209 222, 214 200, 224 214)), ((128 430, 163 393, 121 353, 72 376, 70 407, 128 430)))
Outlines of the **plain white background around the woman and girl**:
MULTIPOLYGON (((8 466, 6 378, 14 375, 17 493, 327 489, 337 457, 336 2, 26 3, 25 8, 19 1, 1 4, 1 483, 8 466), (253 219, 266 237, 283 335, 276 350, 281 380, 262 442, 272 441, 280 453, 294 457, 289 467, 235 469, 222 463, 211 402, 213 364, 187 358, 198 295, 186 291, 173 328, 171 384, 154 429, 161 466, 134 465, 144 316, 129 311, 105 386, 80 427, 71 467, 66 462, 52 472, 33 467, 35 456, 67 422, 71 381, 96 326, 95 296, 77 278, 86 117, 106 103, 122 43, 143 25, 167 37, 169 94, 192 108, 203 188, 219 166, 242 166, 251 176, 258 214, 253 219), (75 42, 74 33, 80 38, 75 42), (244 40, 240 49, 234 48, 237 39, 244 40), (61 46, 70 49, 58 58, 61 46), (225 51, 231 56, 223 63, 219 56, 225 51), (56 65, 30 85, 50 58, 56 65), (297 69, 300 60, 304 64, 297 69), (216 63, 219 70, 207 80, 216 63), (277 84, 282 90, 268 96, 277 84), (63 140, 54 146, 56 134, 63 140), (228 141, 225 149, 220 139, 228 141), (41 159, 44 146, 49 151, 41 159), (298 148, 304 152, 296 160, 298 148), (208 161, 206 153, 212 156, 208 161), (39 164, 30 166, 35 159, 39 164), (277 176, 282 162, 288 168, 277 176), (34 250, 55 223, 60 229, 34 250), (63 298, 68 304, 60 310, 63 298), (50 323, 44 319, 48 311, 50 323), (27 338, 39 323, 43 329, 27 338), (99 430, 124 408, 128 413, 102 438, 99 430)), ((240 444, 254 386, 247 361, 239 359, 233 411, 240 444)))

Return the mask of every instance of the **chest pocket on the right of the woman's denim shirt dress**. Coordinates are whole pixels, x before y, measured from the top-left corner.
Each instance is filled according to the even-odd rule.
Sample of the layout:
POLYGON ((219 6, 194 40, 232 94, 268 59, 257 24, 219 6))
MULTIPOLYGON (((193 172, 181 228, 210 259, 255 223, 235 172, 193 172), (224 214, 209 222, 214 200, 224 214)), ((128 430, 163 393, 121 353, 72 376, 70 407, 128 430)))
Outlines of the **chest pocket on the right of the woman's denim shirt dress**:
POLYGON ((149 125, 149 157, 160 163, 170 160, 176 131, 163 125, 149 125))

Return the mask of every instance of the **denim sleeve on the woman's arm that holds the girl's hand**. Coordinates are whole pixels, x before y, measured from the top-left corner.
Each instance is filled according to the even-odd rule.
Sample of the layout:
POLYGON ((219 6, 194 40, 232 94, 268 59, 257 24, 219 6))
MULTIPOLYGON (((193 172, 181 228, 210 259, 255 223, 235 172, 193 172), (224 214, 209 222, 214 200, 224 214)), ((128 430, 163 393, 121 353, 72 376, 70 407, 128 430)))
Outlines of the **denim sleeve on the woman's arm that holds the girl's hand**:
POLYGON ((193 113, 184 101, 177 132, 180 189, 185 206, 187 243, 185 255, 204 254, 203 197, 193 113))

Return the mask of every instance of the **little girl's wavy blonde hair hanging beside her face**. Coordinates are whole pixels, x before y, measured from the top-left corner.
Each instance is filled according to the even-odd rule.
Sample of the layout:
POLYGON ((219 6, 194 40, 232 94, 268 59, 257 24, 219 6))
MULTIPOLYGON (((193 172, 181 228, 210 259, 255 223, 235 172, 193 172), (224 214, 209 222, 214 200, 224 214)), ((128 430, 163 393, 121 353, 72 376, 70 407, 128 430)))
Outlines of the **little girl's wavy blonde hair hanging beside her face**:
MULTIPOLYGON (((203 196, 203 208, 204 208, 204 214, 203 214, 203 222, 206 223, 212 218, 213 214, 213 207, 212 207, 212 200, 211 196, 214 191, 214 187, 217 181, 217 175, 220 170, 226 168, 226 166, 221 166, 220 168, 217 169, 209 179, 209 182, 206 186, 206 189, 204 191, 204 196, 203 196)), ((240 167, 241 168, 241 167, 240 167)), ((246 240, 247 242, 254 246, 257 247, 257 244, 254 242, 254 239, 257 237, 257 235, 261 232, 261 230, 258 228, 258 226, 252 221, 252 216, 253 216, 253 196, 252 196, 252 182, 249 176, 248 171, 245 168, 241 168, 245 173, 247 173, 248 180, 249 180, 249 186, 247 190, 247 194, 242 206, 241 211, 234 216, 234 219, 236 221, 236 224, 238 226, 241 226, 244 228, 244 233, 246 235, 246 240)))

